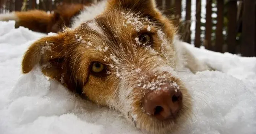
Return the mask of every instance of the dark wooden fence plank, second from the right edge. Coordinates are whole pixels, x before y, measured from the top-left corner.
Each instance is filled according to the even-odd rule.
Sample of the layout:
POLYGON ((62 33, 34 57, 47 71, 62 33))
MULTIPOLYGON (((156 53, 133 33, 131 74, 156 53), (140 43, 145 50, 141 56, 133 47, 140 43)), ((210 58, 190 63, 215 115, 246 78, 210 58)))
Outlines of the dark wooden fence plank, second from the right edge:
POLYGON ((236 53, 236 38, 237 38, 237 2, 229 1, 227 3, 227 19, 228 19, 228 35, 227 35, 227 46, 228 52, 231 54, 236 53))

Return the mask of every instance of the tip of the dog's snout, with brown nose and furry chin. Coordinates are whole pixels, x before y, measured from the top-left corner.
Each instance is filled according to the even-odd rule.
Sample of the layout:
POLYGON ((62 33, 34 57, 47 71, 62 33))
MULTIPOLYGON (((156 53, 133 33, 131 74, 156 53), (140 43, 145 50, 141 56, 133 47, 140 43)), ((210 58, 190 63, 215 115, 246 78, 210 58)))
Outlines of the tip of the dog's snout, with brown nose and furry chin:
POLYGON ((127 119, 141 131, 153 134, 176 131, 190 117, 191 96, 175 78, 151 85, 155 88, 142 84, 131 91, 127 119))

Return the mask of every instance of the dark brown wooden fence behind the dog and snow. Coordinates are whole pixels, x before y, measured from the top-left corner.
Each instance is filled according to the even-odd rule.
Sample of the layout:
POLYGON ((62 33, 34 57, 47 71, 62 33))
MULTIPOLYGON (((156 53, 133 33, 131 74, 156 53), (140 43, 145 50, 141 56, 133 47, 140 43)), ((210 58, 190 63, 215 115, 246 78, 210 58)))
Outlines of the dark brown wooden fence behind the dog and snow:
MULTIPOLYGON (((99 1, 99 0, 98 0, 99 1)), ((53 11, 63 2, 86 3, 97 0, 0 0, 0 13, 42 9, 53 11)), ((156 0, 157 6, 180 24, 183 40, 216 52, 230 52, 245 57, 256 56, 256 0, 156 0), (206 2, 206 22, 202 23, 202 2, 206 2), (196 2, 195 33, 191 38, 191 3, 196 2), (212 17, 217 2, 217 18, 212 17), (185 8, 182 5, 185 3, 185 8), (185 12, 183 21, 181 13, 185 12), (172 17, 173 18, 173 17, 172 17), (217 20, 217 24, 213 23, 217 20), (224 25, 225 19, 227 24, 224 25), (204 32, 202 30, 204 27, 204 32), (214 28, 215 27, 215 28, 214 28), (214 29, 214 30, 213 30, 214 29), (225 34, 224 34, 225 33, 225 34)))

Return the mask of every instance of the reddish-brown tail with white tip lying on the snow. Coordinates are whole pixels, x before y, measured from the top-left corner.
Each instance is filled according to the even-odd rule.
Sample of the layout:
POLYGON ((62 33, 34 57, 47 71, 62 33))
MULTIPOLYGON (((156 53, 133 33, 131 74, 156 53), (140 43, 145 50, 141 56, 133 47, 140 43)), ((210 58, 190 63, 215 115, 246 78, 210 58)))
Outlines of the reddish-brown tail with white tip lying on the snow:
POLYGON ((41 10, 0 14, 0 21, 8 20, 15 20, 16 28, 22 26, 35 32, 47 33, 52 20, 52 14, 47 14, 45 11, 41 10))

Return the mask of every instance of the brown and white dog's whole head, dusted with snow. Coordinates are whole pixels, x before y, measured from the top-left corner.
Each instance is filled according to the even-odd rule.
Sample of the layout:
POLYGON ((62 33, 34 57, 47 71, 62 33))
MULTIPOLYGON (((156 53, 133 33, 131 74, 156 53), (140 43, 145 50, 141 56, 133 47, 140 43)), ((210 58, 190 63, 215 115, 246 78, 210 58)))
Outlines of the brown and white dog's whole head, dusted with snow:
POLYGON ((79 27, 36 41, 23 72, 42 72, 89 100, 122 112, 151 133, 173 132, 190 117, 191 96, 175 75, 175 29, 152 0, 112 0, 79 27))

